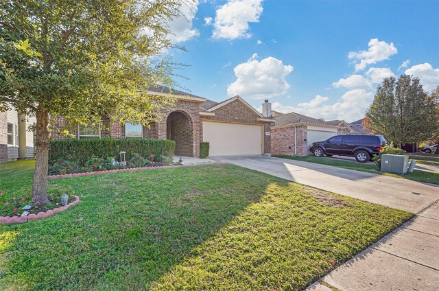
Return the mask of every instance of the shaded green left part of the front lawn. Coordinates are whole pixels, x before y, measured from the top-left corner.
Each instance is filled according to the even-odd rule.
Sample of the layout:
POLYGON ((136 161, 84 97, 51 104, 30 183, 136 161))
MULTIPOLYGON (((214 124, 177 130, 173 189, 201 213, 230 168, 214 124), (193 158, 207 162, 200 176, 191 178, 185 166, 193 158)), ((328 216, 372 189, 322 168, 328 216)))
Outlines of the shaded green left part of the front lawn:
POLYGON ((0 226, 0 289, 148 288, 276 180, 194 167, 51 181, 81 202, 53 218, 0 226))

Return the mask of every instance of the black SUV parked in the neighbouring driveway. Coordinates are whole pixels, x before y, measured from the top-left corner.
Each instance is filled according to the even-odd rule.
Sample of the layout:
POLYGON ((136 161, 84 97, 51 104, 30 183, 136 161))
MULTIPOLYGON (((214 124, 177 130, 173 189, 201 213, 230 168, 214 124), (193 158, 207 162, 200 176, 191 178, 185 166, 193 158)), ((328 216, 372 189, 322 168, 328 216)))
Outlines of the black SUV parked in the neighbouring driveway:
POLYGON ((326 141, 313 143, 310 150, 314 156, 355 156, 358 162, 366 163, 387 144, 382 135, 335 135, 326 141))

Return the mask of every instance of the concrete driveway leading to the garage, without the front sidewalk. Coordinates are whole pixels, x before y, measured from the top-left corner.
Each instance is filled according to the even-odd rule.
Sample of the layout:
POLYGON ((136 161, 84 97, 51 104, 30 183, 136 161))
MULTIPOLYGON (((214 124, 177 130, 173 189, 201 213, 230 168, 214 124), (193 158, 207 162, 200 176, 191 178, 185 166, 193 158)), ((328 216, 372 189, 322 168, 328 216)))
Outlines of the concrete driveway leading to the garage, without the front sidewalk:
POLYGON ((329 165, 270 156, 209 156, 209 159, 412 213, 422 211, 439 199, 439 185, 329 165))

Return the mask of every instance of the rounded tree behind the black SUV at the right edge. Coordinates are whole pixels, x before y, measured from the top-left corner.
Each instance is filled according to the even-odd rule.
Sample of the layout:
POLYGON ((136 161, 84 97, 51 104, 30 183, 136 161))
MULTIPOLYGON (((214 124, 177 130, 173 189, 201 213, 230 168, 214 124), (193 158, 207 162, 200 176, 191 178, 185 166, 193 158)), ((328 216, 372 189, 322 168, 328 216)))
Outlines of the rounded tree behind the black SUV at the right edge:
POLYGON ((366 113, 368 130, 395 144, 432 139, 438 127, 438 97, 424 91, 418 78, 386 78, 366 113))

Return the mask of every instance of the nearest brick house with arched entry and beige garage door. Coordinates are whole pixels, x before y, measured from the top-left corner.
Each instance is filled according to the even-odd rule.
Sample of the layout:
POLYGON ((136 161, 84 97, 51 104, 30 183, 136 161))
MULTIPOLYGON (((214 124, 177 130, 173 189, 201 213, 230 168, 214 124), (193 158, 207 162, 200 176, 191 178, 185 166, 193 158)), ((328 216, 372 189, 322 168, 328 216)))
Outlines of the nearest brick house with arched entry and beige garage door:
MULTIPOLYGON (((73 135, 79 139, 171 139, 176 141, 175 154, 178 156, 199 156, 202 141, 209 141, 211 156, 270 153, 273 120, 261 115, 239 96, 218 103, 164 86, 150 88, 147 93, 170 95, 178 101, 173 108, 163 109, 164 118, 150 124, 150 128, 140 124, 110 124, 108 117, 102 117, 102 126, 78 126, 73 135)), ((64 126, 65 120, 58 118, 52 139, 67 138, 56 130, 64 126)))

